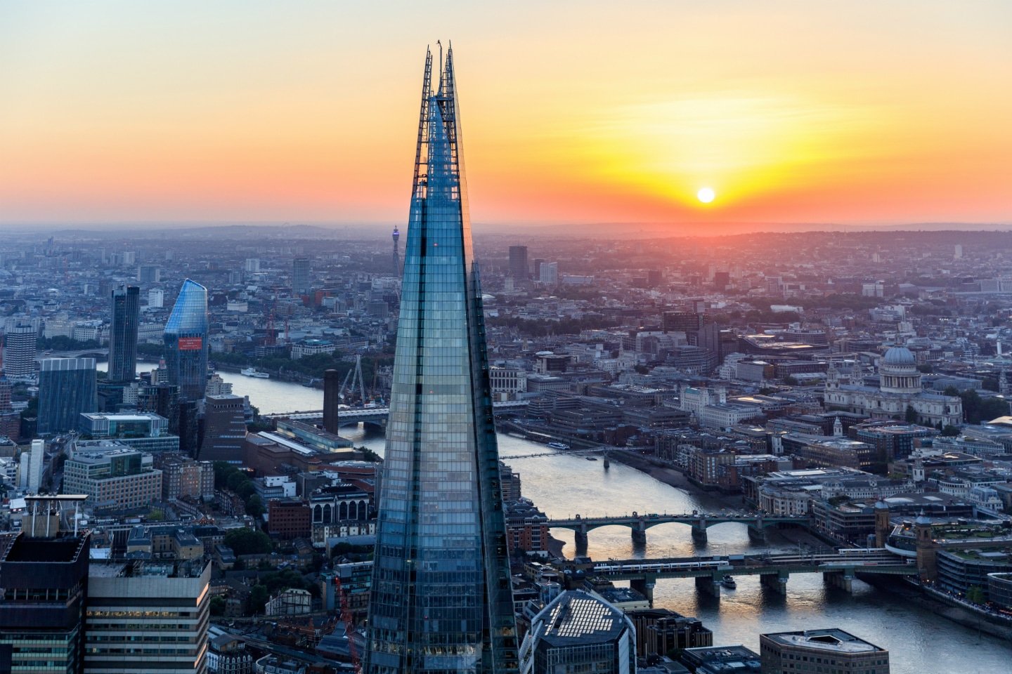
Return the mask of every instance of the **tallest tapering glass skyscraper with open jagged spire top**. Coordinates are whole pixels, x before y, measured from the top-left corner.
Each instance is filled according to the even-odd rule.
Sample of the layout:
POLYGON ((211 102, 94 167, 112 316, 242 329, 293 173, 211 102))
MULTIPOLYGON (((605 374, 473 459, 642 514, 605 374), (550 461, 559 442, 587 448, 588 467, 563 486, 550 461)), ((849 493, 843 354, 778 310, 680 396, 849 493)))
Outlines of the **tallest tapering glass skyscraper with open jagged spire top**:
POLYGON ((425 57, 367 674, 515 672, 506 526, 452 50, 425 57))

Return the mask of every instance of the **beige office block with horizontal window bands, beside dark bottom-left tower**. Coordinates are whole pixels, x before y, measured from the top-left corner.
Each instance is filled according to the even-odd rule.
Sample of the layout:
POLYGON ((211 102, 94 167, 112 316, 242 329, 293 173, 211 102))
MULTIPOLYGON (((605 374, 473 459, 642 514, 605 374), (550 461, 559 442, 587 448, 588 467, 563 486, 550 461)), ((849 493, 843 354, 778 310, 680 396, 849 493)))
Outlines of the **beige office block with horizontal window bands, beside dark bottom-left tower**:
POLYGON ((95 563, 88 572, 87 674, 207 671, 210 563, 95 563))

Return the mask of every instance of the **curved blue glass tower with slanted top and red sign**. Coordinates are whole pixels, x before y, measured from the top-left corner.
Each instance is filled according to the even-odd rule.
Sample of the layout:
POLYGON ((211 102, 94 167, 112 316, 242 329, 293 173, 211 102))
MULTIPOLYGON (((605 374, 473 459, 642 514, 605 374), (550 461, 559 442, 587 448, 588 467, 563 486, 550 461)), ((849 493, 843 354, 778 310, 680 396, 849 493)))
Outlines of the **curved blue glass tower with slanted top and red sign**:
POLYGON ((207 289, 186 279, 165 323, 165 366, 180 400, 199 400, 207 386, 207 289))

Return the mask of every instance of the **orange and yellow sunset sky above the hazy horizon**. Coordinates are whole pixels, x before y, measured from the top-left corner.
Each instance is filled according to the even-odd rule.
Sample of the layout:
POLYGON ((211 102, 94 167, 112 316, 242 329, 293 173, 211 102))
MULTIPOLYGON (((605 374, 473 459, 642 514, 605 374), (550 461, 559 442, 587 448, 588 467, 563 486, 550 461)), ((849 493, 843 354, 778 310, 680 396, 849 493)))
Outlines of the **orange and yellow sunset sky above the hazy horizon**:
POLYGON ((476 222, 1009 223, 1010 35, 1008 0, 0 0, 0 221, 403 221, 441 37, 476 222))

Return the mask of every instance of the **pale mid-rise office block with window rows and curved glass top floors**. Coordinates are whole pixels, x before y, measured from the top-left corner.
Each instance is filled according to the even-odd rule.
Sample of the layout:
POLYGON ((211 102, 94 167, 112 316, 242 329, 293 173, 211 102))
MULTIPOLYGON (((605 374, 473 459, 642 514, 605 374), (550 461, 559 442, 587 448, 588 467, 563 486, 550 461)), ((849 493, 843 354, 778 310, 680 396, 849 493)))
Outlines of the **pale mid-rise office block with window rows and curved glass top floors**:
POLYGON ((150 454, 115 441, 82 441, 64 462, 65 494, 86 494, 96 510, 141 508, 162 496, 162 471, 150 454))

